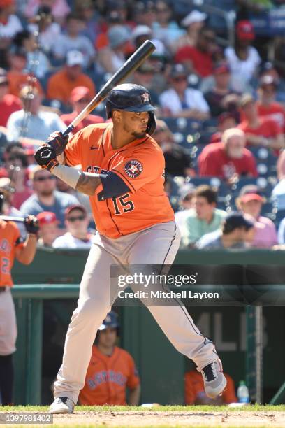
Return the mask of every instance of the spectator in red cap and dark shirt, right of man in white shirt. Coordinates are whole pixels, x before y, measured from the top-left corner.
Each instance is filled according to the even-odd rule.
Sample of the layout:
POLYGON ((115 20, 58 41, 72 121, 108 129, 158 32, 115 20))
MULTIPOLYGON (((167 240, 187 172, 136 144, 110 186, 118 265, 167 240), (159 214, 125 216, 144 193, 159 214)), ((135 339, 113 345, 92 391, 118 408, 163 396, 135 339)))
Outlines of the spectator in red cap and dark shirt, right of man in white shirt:
POLYGON ((238 110, 240 97, 230 90, 230 78, 231 73, 226 62, 219 62, 214 66, 214 87, 204 95, 213 117, 217 117, 227 110, 231 110, 231 113, 238 110), (228 105, 230 94, 231 105, 228 105))

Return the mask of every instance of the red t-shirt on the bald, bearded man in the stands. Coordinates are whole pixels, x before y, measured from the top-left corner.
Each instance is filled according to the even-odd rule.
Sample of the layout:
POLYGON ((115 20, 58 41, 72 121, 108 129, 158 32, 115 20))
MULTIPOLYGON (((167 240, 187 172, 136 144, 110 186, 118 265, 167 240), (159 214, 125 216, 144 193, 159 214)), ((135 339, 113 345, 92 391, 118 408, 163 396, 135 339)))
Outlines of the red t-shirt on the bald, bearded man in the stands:
POLYGON ((231 178, 233 174, 239 176, 257 177, 254 155, 244 148, 240 159, 231 159, 226 154, 224 143, 206 145, 198 158, 199 176, 231 178))

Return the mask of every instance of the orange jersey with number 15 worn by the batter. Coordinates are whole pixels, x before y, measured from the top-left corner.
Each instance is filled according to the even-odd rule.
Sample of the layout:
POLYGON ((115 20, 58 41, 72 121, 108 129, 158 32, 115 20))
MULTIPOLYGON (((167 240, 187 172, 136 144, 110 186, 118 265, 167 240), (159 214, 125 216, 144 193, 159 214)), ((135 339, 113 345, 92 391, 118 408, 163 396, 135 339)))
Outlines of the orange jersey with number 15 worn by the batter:
POLYGON ((69 166, 81 164, 82 171, 91 173, 112 171, 129 187, 120 197, 100 200, 101 184, 90 197, 99 233, 119 238, 173 221, 173 209, 163 190, 165 162, 159 145, 147 134, 114 150, 111 130, 110 123, 89 125, 71 138, 64 151, 69 166))

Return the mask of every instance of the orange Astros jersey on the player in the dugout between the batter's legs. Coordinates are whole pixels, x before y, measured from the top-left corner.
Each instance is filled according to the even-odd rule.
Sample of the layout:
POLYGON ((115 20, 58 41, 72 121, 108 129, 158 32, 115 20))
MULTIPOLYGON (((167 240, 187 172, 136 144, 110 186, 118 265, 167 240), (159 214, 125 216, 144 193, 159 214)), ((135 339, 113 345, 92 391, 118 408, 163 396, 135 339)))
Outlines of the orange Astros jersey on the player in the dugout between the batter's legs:
POLYGON ((126 387, 133 390, 139 384, 140 378, 129 352, 115 346, 108 357, 94 345, 79 401, 85 406, 124 406, 126 387))

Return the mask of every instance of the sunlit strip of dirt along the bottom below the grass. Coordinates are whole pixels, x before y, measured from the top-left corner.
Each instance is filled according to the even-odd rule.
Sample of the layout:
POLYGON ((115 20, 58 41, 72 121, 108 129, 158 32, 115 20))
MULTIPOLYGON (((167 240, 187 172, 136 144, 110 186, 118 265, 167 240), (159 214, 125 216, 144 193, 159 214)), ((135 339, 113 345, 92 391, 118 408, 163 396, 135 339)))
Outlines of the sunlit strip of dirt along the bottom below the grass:
POLYGON ((73 415, 54 415, 54 425, 105 427, 285 427, 285 412, 194 412, 194 411, 76 411, 73 415))

